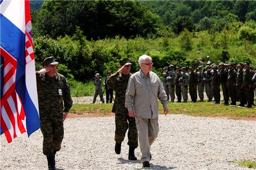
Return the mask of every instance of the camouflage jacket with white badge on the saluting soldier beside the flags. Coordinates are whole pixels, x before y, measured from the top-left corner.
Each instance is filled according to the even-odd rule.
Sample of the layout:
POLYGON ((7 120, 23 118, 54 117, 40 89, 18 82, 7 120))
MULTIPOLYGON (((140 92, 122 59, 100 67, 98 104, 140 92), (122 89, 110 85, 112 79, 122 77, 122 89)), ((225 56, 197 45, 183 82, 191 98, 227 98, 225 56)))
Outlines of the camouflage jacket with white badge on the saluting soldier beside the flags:
POLYGON ((65 77, 56 73, 55 77, 51 78, 47 74, 36 72, 36 78, 40 116, 44 114, 63 116, 63 112, 69 112, 72 98, 65 77))

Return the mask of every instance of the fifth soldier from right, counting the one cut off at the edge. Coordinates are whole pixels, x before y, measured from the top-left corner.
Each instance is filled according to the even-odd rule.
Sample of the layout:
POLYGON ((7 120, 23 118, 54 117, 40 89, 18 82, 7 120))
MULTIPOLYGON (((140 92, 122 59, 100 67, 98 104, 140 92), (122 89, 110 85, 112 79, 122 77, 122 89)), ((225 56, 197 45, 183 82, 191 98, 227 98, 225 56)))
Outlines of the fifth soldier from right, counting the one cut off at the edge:
POLYGON ((225 68, 224 63, 219 63, 219 75, 221 80, 221 87, 222 87, 222 94, 224 98, 224 103, 228 105, 229 104, 229 90, 227 86, 228 81, 228 70, 225 68))

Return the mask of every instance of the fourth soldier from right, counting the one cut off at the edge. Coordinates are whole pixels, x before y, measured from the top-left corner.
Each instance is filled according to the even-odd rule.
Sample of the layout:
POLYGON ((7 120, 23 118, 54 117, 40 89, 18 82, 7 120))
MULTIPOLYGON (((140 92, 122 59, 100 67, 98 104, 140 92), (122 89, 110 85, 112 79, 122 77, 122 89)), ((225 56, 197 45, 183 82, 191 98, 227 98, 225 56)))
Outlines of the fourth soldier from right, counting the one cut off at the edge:
POLYGON ((237 91, 236 91, 236 82, 237 82, 237 72, 234 70, 232 63, 228 63, 229 73, 228 73, 228 82, 227 86, 229 88, 229 96, 231 98, 230 105, 236 105, 237 101, 237 91))

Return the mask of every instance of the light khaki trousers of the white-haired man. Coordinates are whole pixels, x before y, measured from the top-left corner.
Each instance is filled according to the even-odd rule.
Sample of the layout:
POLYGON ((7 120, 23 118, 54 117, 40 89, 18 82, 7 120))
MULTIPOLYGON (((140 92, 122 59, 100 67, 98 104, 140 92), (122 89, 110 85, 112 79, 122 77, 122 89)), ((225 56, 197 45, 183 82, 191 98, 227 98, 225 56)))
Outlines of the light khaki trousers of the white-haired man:
POLYGON ((136 127, 139 132, 139 147, 141 162, 150 161, 150 147, 158 136, 158 118, 139 118, 135 117, 136 127))

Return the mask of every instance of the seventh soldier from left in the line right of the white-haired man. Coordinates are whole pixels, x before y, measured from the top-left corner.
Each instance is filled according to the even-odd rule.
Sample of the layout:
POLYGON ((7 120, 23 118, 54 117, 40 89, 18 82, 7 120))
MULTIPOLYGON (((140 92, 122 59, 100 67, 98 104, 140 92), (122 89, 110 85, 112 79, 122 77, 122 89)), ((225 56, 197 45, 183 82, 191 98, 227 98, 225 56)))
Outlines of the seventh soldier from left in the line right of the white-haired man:
POLYGON ((211 70, 210 70, 210 66, 207 65, 205 66, 205 72, 204 72, 204 84, 205 84, 205 92, 206 92, 206 96, 208 97, 208 101, 207 102, 211 102, 213 94, 212 94, 212 88, 211 88, 211 70))

